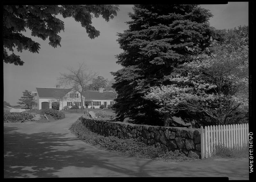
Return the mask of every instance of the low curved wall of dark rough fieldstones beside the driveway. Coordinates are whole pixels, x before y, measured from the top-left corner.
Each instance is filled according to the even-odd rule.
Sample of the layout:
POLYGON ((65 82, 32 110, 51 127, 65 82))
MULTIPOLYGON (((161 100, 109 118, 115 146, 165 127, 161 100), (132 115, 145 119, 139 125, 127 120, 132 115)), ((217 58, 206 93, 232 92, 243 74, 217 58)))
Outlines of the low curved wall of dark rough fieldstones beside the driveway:
POLYGON ((201 139, 199 129, 183 127, 164 127, 136 125, 123 122, 110 122, 96 119, 82 119, 84 127, 104 136, 121 139, 134 139, 147 145, 160 146, 164 150, 179 149, 191 158, 201 158, 201 139))

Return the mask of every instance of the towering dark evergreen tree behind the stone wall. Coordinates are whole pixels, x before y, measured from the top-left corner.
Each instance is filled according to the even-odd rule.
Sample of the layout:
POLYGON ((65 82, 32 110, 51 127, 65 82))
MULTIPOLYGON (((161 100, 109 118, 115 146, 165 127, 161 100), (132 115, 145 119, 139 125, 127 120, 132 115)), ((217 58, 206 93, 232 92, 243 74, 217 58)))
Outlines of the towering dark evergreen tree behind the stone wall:
POLYGON ((112 72, 118 95, 113 109, 118 120, 130 118, 134 123, 159 125, 163 115, 142 96, 149 87, 168 84, 171 72, 191 59, 186 46, 197 45, 201 52, 209 45, 212 14, 191 4, 135 5, 133 11, 129 13, 129 29, 118 34, 124 52, 117 55, 117 63, 123 69, 112 72))

